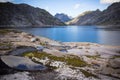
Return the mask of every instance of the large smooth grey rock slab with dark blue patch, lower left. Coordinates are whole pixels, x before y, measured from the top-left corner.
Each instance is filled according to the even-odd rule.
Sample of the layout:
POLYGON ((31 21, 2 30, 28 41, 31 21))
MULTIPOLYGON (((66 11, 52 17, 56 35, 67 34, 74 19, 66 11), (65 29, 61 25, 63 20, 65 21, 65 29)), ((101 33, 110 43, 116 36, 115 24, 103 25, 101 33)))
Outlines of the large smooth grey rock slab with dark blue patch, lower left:
POLYGON ((18 56, 1 56, 1 60, 9 67, 18 70, 46 70, 47 67, 41 64, 34 63, 31 59, 18 56))

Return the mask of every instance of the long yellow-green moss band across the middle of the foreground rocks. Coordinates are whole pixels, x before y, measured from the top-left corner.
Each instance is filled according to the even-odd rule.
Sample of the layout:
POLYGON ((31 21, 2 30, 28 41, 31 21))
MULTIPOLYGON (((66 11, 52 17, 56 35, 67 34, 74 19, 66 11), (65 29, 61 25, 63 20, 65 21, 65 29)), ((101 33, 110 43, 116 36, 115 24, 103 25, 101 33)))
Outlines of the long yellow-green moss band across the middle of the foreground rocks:
POLYGON ((53 56, 51 54, 47 54, 45 52, 30 52, 30 53, 23 53, 23 56, 27 57, 37 57, 39 59, 44 59, 45 57, 48 57, 52 61, 62 61, 65 62, 67 65, 71 65, 74 67, 84 67, 87 65, 86 62, 84 62, 80 57, 77 56, 62 56, 57 57, 53 56))

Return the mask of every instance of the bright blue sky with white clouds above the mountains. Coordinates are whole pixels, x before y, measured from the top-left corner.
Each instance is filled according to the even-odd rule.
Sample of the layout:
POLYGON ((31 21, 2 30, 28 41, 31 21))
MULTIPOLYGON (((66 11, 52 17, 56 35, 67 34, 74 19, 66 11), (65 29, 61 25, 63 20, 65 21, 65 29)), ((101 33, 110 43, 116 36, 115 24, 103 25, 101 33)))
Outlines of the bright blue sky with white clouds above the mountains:
POLYGON ((89 10, 104 10, 114 2, 120 0, 0 0, 0 2, 26 3, 34 7, 46 9, 52 15, 65 13, 76 17, 80 13, 89 10))

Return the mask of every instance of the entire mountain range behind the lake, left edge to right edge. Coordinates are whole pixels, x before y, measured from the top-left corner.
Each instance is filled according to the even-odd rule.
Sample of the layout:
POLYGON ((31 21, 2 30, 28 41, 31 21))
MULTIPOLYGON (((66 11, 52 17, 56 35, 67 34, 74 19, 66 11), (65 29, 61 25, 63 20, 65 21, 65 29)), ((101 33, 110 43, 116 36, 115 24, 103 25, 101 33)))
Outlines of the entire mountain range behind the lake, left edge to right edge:
POLYGON ((0 3, 0 26, 120 25, 120 2, 104 11, 86 11, 71 19, 66 14, 52 16, 44 9, 27 4, 0 3), (67 22, 68 21, 68 22, 67 22))

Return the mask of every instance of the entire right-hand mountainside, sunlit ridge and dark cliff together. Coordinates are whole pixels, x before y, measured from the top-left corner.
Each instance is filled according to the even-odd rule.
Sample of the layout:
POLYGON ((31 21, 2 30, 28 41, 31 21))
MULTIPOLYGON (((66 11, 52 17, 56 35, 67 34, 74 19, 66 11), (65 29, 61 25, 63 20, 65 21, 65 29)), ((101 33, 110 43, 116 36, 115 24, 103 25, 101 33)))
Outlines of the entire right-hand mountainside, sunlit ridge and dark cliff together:
POLYGON ((69 25, 120 25, 120 2, 106 10, 87 11, 67 22, 69 25))

